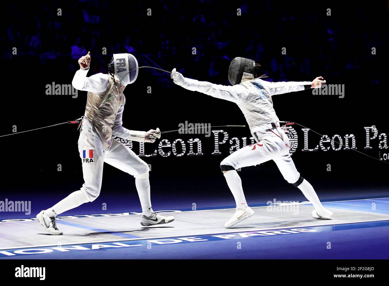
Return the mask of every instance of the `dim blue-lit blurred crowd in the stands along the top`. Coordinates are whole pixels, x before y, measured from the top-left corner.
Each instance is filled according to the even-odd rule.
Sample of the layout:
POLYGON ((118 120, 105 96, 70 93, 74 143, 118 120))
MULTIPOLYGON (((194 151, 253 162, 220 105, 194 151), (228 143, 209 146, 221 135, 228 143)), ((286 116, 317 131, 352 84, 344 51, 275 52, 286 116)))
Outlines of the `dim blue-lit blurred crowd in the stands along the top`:
POLYGON ((387 61, 385 3, 375 9, 206 0, 22 5, 9 7, 14 21, 1 20, 2 61, 62 67, 58 72, 74 72, 88 51, 93 72, 107 72, 112 54, 131 53, 140 65, 177 67, 186 76, 228 84, 228 65, 242 56, 261 63, 270 81, 362 76, 376 84, 387 61))

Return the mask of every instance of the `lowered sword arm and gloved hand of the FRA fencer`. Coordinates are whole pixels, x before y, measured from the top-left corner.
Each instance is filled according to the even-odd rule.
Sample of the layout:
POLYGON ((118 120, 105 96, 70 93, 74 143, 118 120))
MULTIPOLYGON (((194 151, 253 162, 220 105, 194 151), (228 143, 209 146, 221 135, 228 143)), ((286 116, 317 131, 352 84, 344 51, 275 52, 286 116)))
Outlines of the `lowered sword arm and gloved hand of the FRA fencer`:
POLYGON ((159 132, 159 128, 157 130, 149 130, 148 132, 145 131, 135 131, 135 130, 129 130, 127 128, 124 128, 122 126, 123 121, 123 111, 124 111, 124 103, 119 108, 119 111, 117 111, 116 119, 114 127, 112 128, 112 135, 115 135, 120 138, 124 138, 131 141, 137 141, 137 142, 151 142, 153 143, 155 139, 161 138, 161 134, 158 133, 158 135, 154 134, 159 132))

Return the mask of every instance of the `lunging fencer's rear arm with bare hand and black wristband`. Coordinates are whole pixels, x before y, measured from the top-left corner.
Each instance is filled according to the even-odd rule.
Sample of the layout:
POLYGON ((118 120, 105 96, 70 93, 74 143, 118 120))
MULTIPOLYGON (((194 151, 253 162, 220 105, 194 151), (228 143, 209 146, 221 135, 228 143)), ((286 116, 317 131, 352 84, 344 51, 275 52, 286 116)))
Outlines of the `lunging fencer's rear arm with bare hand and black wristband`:
MULTIPOLYGON (((322 80, 323 77, 316 77, 314 81, 282 81, 282 82, 266 82, 266 85, 270 89, 271 95, 283 94, 292 91, 300 91, 310 88, 319 88, 326 81, 322 80)), ((265 82, 265 81, 264 81, 265 82)))

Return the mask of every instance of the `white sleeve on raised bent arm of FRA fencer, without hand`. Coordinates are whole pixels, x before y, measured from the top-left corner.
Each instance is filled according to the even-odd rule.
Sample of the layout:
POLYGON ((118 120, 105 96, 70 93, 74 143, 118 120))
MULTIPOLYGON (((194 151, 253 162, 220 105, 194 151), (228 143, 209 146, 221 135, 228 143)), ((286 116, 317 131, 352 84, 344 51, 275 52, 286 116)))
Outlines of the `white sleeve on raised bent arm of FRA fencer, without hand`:
POLYGON ((108 75, 107 74, 94 74, 91 77, 86 77, 88 70, 77 70, 73 77, 72 85, 75 89, 90 91, 93 93, 100 93, 105 91, 108 86, 108 75))

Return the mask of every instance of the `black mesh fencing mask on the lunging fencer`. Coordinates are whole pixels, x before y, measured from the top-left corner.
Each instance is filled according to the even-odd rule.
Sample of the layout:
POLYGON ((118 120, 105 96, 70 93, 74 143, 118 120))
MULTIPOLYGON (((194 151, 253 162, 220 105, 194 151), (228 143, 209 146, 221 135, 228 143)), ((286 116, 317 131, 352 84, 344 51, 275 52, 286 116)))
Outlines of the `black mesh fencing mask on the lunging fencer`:
POLYGON ((234 85, 240 84, 244 77, 254 79, 259 67, 261 65, 253 60, 237 57, 231 61, 228 68, 228 80, 234 85))

